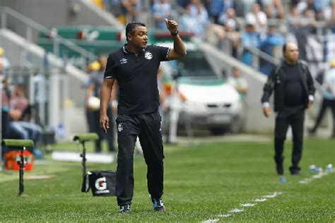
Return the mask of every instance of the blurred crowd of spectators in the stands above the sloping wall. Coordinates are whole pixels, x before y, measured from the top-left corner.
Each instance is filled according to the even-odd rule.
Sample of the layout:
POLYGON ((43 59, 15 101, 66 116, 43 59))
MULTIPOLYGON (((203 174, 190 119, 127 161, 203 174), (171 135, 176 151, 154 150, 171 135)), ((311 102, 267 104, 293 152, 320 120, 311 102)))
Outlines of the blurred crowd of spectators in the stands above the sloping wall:
POLYGON ((163 18, 173 18, 180 23, 180 30, 192 32, 265 74, 273 62, 259 59, 255 52, 276 57, 277 49, 288 40, 298 43, 301 58, 305 59, 302 46, 308 34, 317 33, 318 24, 323 25, 322 32, 335 32, 335 1, 331 0, 93 1, 124 24, 142 20, 157 29, 165 29, 163 18), (143 20, 144 14, 147 20, 143 20))

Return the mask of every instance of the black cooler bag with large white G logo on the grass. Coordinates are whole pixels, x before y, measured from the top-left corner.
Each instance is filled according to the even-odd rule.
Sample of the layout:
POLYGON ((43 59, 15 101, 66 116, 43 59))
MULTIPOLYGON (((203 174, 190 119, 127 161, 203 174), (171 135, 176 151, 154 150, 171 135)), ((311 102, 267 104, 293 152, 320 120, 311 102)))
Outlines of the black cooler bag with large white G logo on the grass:
POLYGON ((87 193, 91 189, 93 196, 114 196, 115 182, 115 171, 88 171, 84 176, 81 192, 87 193))

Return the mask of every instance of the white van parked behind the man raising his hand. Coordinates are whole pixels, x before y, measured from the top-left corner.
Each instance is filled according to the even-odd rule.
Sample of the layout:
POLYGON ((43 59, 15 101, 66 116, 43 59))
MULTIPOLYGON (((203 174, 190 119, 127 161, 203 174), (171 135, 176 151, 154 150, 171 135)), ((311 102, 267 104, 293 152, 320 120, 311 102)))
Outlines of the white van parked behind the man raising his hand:
MULTIPOLYGON (((203 52, 187 46, 187 56, 162 63, 160 68, 167 110, 180 111, 178 126, 190 123, 192 127, 207 128, 214 134, 241 130, 240 95, 213 71, 203 52), (179 100, 172 100, 169 85, 172 92, 177 88, 179 100)), ((168 121, 168 114, 165 120, 168 121)))

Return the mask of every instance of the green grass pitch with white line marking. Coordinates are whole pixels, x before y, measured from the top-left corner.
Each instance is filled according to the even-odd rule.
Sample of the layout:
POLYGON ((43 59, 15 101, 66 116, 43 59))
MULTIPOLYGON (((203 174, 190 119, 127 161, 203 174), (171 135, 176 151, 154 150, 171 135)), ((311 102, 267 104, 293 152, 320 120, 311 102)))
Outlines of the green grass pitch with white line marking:
MULTIPOLYGON (((334 140, 305 140, 300 176, 290 176, 291 145, 286 143, 286 183, 280 183, 271 140, 165 146, 166 212, 154 212, 146 189, 146 165, 134 162, 135 191, 130 215, 120 215, 116 199, 81 193, 81 164, 35 164, 26 176, 54 174, 47 180, 25 180, 18 197, 18 172, 0 172, 0 222, 334 222, 335 173, 312 179, 310 164, 335 164, 334 140), (255 199, 281 193, 263 202, 255 199), (255 204, 242 207, 241 204, 255 204), (230 212, 239 209, 243 212, 230 212), (227 215, 229 217, 224 217, 227 215)), ((78 150, 73 143, 56 149, 78 150)), ((90 147, 90 146, 89 146, 90 147)), ((91 149, 89 149, 91 150, 91 149)), ((115 169, 116 164, 88 164, 88 170, 115 169)), ((237 210, 238 211, 238 210, 237 210)))

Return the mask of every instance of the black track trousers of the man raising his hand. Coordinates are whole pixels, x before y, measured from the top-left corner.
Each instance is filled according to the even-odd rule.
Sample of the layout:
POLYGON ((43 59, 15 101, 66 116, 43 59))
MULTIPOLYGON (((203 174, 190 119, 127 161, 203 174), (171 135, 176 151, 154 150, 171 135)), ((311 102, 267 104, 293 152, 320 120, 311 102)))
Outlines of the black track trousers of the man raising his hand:
POLYGON ((117 116, 117 204, 131 204, 134 194, 134 147, 136 137, 147 165, 148 192, 152 198, 163 195, 163 142, 160 133, 160 114, 117 116))

